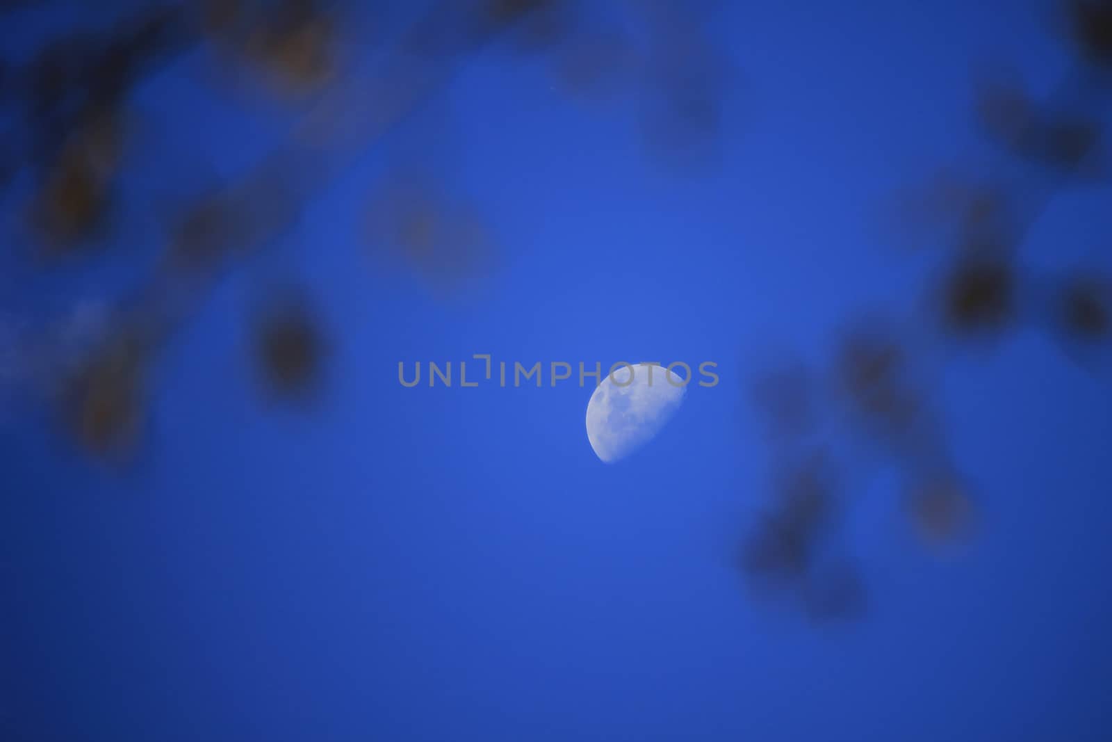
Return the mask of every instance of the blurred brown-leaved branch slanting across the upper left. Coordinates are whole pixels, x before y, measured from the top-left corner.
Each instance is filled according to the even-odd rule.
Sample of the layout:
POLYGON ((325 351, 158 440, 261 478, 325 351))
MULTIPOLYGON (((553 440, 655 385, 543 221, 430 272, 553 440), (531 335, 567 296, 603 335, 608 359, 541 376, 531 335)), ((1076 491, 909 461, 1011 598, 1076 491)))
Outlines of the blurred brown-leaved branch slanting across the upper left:
MULTIPOLYGON (((51 4, 59 3, 9 3, 3 9, 21 12, 51 4)), ((20 110, 20 131, 30 140, 24 149, 29 158, 8 171, 32 175, 31 238, 41 255, 56 259, 87 254, 118 228, 113 214, 122 212, 117 209, 118 182, 129 133, 128 101, 141 81, 170 60, 203 47, 231 77, 246 73, 277 92, 294 117, 287 136, 255 166, 188 202, 171 205, 163 257, 153 275, 115 301, 115 324, 93 345, 88 362, 77 370, 64 369, 60 398, 69 400, 66 406, 100 410, 96 425, 70 429, 93 453, 110 447, 113 432, 132 439, 142 395, 122 387, 148 379, 138 369, 187 326, 220 276, 288 237, 312 194, 444 89, 469 58, 499 41, 508 42, 513 55, 550 56, 556 70, 569 69, 562 60, 577 55, 574 76, 565 78, 573 87, 592 88, 609 69, 641 65, 649 70, 647 90, 658 98, 655 115, 671 117, 673 129, 691 121, 696 126, 691 137, 702 136, 699 127, 715 119, 712 99, 721 89, 701 82, 718 70, 709 66, 707 44, 698 41, 698 23, 684 23, 684 44, 669 49, 665 39, 673 29, 661 19, 676 21, 688 13, 671 0, 631 6, 634 17, 639 13, 652 26, 654 53, 669 55, 667 65, 651 69, 634 62, 648 57, 635 50, 628 34, 593 28, 596 8, 579 0, 436 0, 407 21, 393 42, 342 59, 348 21, 360 12, 379 13, 385 6, 178 0, 123 12, 103 30, 67 33, 43 44, 28 63, 6 66, 4 89, 13 95, 4 102, 20 110), (584 56, 584 49, 593 53, 584 56), (683 76, 664 75, 672 69, 683 76), (704 92, 695 105, 691 95, 697 89, 704 92), (129 356, 129 372, 111 385, 98 383, 103 368, 118 367, 101 356, 116 357, 121 338, 135 337, 141 338, 142 352, 129 356)), ((377 224, 393 226, 369 235, 398 245, 434 284, 448 286, 489 251, 489 230, 476 214, 459 211, 427 187, 398 190, 387 185, 371 211, 385 215, 377 224)), ((295 303, 301 307, 297 310, 286 306, 256 325, 256 353, 270 369, 260 379, 279 396, 314 386, 310 377, 320 368, 317 355, 325 345, 312 338, 326 333, 309 327, 318 321, 309 304, 295 303), (296 358, 298 354, 302 357, 296 358)))

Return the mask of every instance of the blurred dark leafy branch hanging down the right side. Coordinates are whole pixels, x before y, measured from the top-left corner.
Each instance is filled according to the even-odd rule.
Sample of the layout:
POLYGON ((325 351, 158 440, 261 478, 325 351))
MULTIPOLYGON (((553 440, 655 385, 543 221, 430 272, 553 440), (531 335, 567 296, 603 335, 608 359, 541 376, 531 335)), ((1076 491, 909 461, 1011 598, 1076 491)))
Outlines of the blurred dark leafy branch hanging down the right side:
MULTIPOLYGON (((913 212, 904 215, 913 230, 927 231, 946 247, 944 270, 925 287, 926 316, 900 329, 857 321, 858 329, 851 329, 830 360, 827 375, 838 379, 830 388, 848 402, 848 426, 825 428, 882 442, 885 463, 902 469, 910 483, 903 493, 904 512, 931 546, 970 536, 975 507, 964 476, 950 461, 940 415, 933 410, 941 368, 922 355, 923 349, 941 350, 945 359, 954 343, 993 343, 1023 323, 1050 332, 1063 346, 1106 348, 1112 340, 1112 283, 1098 266, 1058 276, 1036 271, 1019 257, 1055 197, 1074 187, 1106 187, 1112 175, 1105 144, 1112 2, 1068 0, 1060 9, 1076 65, 1046 100, 1037 101, 1016 76, 977 81, 975 120, 989 142, 1006 155, 1004 167, 980 174, 974 169, 973 175, 943 172, 916 199, 913 212)), ((1108 375, 1110 368, 1093 370, 1108 375)), ((798 368, 787 365, 766 372, 753 387, 757 409, 768 418, 765 429, 778 432, 770 438, 777 461, 793 455, 785 452, 814 445, 813 436, 801 435, 815 426, 800 425, 801 410, 838 408, 816 402, 821 387, 801 384, 801 378, 798 368)), ((834 496, 830 487, 816 492, 834 496)), ((778 575, 778 592, 802 596, 812 617, 857 615, 808 609, 814 581, 833 580, 823 576, 808 555, 834 540, 838 525, 836 518, 801 515, 833 512, 835 505, 800 508, 797 498, 785 498, 774 487, 768 515, 743 540, 749 554, 741 564, 743 573, 758 587, 778 575)), ((846 581, 846 573, 837 580, 846 581)), ((853 585, 852 604, 863 605, 860 577, 851 575, 845 584, 853 585)), ((834 584, 822 592, 826 588, 834 584)))

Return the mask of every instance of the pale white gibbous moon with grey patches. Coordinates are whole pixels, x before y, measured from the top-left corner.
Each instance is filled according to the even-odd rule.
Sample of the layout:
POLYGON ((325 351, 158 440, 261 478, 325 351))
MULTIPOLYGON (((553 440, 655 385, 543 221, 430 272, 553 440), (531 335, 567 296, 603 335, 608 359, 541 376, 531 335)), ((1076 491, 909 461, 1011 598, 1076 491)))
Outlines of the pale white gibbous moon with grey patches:
POLYGON ((667 369, 655 364, 615 368, 587 403, 587 439, 595 455, 609 464, 653 439, 684 399, 681 382, 686 379, 679 374, 669 382, 667 369))

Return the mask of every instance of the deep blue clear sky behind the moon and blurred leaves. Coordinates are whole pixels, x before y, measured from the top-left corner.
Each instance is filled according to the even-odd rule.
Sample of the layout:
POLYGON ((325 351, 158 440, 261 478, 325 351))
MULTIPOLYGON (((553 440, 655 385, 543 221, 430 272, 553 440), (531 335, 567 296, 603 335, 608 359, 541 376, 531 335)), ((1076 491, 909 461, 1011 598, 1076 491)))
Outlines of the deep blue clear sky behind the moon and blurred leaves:
MULTIPOLYGON (((972 70, 1013 63, 1045 92, 1071 63, 1041 3, 882 4, 728 3, 713 33, 737 77, 697 175, 646 154, 634 102, 573 105, 539 62, 470 59, 320 189, 260 269, 297 275, 335 340, 308 410, 254 384, 252 270, 162 359, 127 471, 13 406, 0 738, 1108 739, 1112 387, 1039 332, 960 355, 935 389, 981 513, 959 554, 921 548, 882 466, 857 473, 847 524, 862 619, 816 625, 756 600, 732 564, 767 502, 745 393, 758 359, 818 360, 868 307, 917 316, 931 259, 892 244, 893 192, 993 161, 971 126, 972 70), (497 235, 496 269, 466 297, 361 237, 371 186, 423 137, 497 235), (712 360, 722 382, 606 465, 574 382, 397 382, 399 360, 477 353, 712 360)), ((6 43, 30 49, 58 22, 41 16, 6 43)), ((272 117, 214 103, 205 69, 191 56, 140 91, 131 187, 185 188, 191 147, 222 174, 272 142, 272 117)), ((1106 187, 1064 191, 1024 258, 1092 260, 1106 202, 1106 187)), ((113 249, 145 255, 152 230, 139 219, 113 249)), ((72 296, 66 276, 13 276, 6 311, 72 296)))

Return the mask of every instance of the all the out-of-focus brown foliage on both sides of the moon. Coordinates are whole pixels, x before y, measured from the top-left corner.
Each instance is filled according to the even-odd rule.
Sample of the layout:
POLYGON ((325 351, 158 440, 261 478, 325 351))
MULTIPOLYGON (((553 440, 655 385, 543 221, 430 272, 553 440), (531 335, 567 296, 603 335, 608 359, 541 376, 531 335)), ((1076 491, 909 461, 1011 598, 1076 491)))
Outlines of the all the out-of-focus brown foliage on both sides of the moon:
MULTIPOLYGON (((8 0, 0 18, 16 22, 49 3, 8 0)), ((714 3, 444 0, 413 12, 389 4, 122 3, 96 29, 0 62, 8 142, 0 185, 6 208, 19 216, 10 244, 22 250, 14 261, 21 269, 110 259, 128 215, 165 215, 153 268, 106 299, 76 355, 67 333, 32 326, 14 334, 14 353, 4 356, 14 375, 48 389, 62 429, 92 456, 126 463, 135 455, 157 360, 220 276, 266 254, 354 154, 404 126, 480 51, 494 49, 507 65, 540 60, 576 101, 635 96, 639 133, 662 167, 697 174, 695 166, 714 159, 724 100, 737 79, 708 30, 714 3), (368 39, 370 53, 353 51, 368 39), (230 105, 272 105, 266 110, 288 122, 288 133, 259 161, 189 198, 122 204, 127 152, 146 136, 132 117, 136 91, 190 55, 218 72, 206 78, 212 97, 231 90, 238 92, 230 105)), ((1094 373, 1108 372, 1099 353, 1112 332, 1108 277, 1083 265, 1048 275, 1020 259, 1055 194, 1103 185, 1109 175, 1112 2, 1072 0, 1056 10, 1054 32, 1072 44, 1076 63, 1055 95, 1036 100, 1006 73, 973 80, 975 126, 986 146, 1019 167, 940 170, 900 205, 913 241, 943 254, 943 269, 924 276, 923 316, 906 321, 868 309, 846 318, 824 362, 791 358, 752 379, 772 484, 765 517, 741 538, 737 566, 761 594, 785 597, 816 619, 864 611, 866 588, 840 536, 854 503, 843 476, 848 464, 835 445, 845 437, 875 444, 905 473, 904 512, 924 543, 975 533, 976 499, 934 408, 935 358, 1033 325, 1094 373)), ((397 258, 397 269, 451 295, 496 269, 499 254, 489 220, 436 172, 399 167, 370 184, 365 238, 368 249, 397 258)), ((282 289, 246 321, 265 396, 311 402, 342 342, 322 325, 312 297, 297 286, 282 289)))

